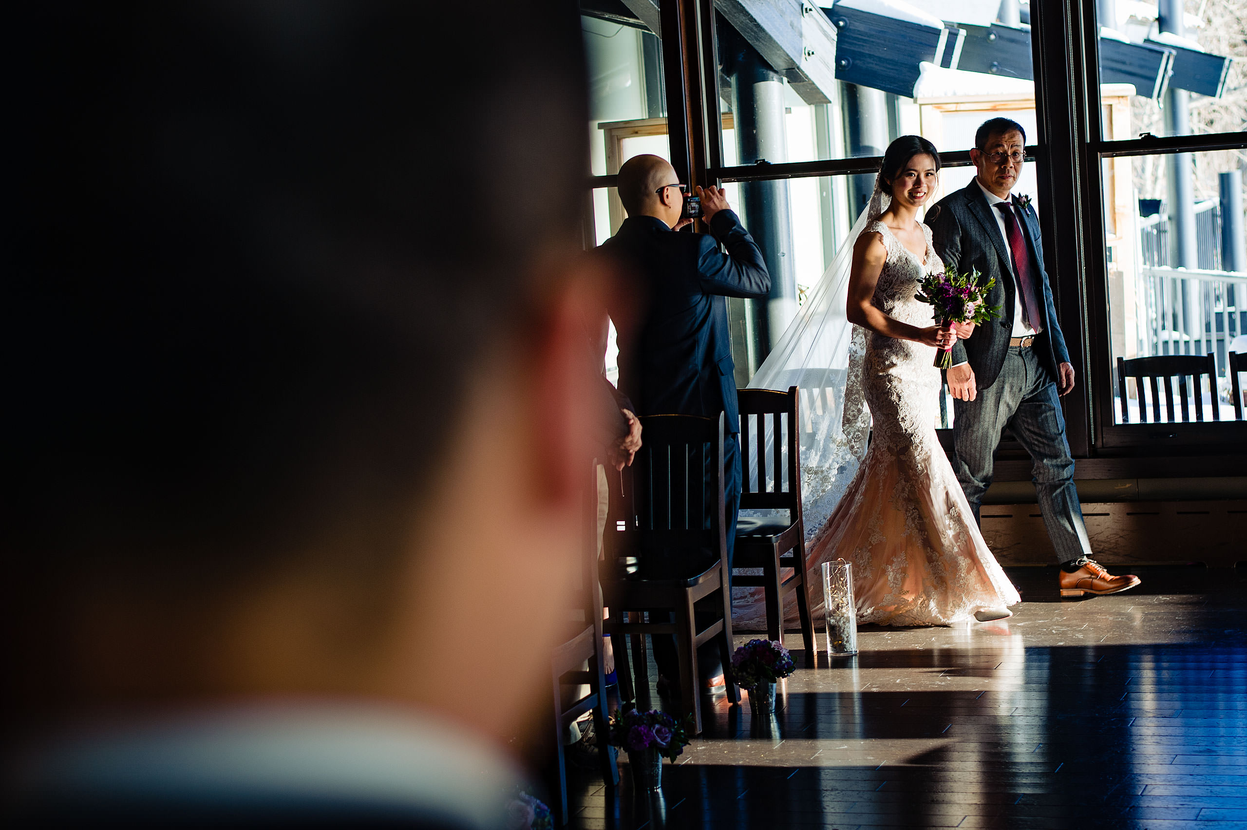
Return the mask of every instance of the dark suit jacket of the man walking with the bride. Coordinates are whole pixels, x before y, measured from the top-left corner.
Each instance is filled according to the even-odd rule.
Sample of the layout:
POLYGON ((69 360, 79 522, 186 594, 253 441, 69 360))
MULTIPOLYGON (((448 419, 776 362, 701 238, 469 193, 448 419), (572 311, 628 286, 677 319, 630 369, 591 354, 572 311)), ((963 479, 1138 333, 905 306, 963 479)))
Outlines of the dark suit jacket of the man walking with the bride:
MULTIPOLYGON (((1039 272, 1044 287, 1044 295, 1036 298, 1044 318, 1040 320, 1044 332, 1035 339, 1034 349, 1055 381, 1059 376, 1057 364, 1069 363, 1070 353, 1065 348, 1061 324, 1056 320, 1052 287, 1044 269, 1044 242, 1039 232, 1039 217, 1030 204, 1021 209, 1021 214, 1023 236, 1026 237, 1031 263, 1039 272)), ((994 277, 996 280, 995 287, 988 293, 988 302, 1003 307, 1000 319, 980 325, 969 340, 958 340, 953 346, 953 364, 969 361, 974 369, 975 383, 980 389, 986 389, 1000 374, 1013 336, 1013 315, 1016 308, 1014 295, 1018 290, 1013 278, 1013 255, 1000 236, 995 212, 988 204, 978 179, 971 178, 964 188, 940 199, 939 204, 928 212, 927 224, 932 228, 935 253, 944 260, 948 270, 968 273, 971 268, 978 268, 985 278, 994 277)))

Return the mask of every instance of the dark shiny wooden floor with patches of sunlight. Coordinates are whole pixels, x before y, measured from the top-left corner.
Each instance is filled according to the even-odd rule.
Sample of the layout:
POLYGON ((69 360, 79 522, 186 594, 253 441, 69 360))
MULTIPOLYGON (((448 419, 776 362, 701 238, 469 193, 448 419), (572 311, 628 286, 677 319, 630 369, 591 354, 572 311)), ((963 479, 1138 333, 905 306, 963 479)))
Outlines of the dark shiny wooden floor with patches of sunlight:
POLYGON ((768 723, 721 695, 662 796, 626 763, 614 796, 580 781, 575 826, 1247 829, 1247 575, 1135 572, 1062 601, 1055 568, 1011 568, 1011 619, 863 629, 768 723))

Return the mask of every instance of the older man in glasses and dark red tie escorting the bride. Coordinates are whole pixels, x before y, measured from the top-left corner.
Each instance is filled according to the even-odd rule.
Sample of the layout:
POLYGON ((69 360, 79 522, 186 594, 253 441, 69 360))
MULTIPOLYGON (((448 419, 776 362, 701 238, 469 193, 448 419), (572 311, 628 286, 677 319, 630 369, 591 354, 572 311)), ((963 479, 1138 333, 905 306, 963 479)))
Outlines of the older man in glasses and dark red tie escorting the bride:
POLYGON ((1139 577, 1112 576, 1091 558, 1074 487, 1060 404, 1060 395, 1074 389, 1074 366, 1044 270, 1039 218, 1029 198, 1011 196, 1026 131, 1016 121, 991 118, 979 127, 974 143, 970 160, 978 174, 927 217, 945 268, 976 268, 994 278, 988 300, 1004 309, 1000 320, 953 349, 948 385, 955 399, 956 477, 978 518, 996 445, 1011 427, 1035 461, 1039 508, 1061 565, 1061 596, 1132 588, 1139 577))

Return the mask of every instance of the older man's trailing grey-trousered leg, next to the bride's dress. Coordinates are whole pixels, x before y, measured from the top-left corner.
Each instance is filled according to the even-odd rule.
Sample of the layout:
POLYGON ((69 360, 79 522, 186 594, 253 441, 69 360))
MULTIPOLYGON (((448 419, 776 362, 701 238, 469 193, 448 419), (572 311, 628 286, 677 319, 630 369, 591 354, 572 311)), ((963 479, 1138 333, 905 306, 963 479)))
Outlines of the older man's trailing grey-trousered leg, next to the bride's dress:
POLYGON ((979 521, 983 494, 991 486, 1000 434, 1021 400, 1025 366, 1015 351, 1009 350, 995 381, 979 389, 974 400, 953 401, 953 471, 974 511, 974 521, 979 521))

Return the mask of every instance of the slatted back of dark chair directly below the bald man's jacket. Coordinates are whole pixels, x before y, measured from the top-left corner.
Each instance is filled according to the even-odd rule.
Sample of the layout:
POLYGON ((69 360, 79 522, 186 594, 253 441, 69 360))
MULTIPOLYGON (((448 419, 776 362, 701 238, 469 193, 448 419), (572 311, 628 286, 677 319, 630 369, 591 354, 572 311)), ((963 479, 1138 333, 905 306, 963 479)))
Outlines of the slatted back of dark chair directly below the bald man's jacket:
POLYGON ((695 556, 722 548, 726 557, 722 420, 722 415, 641 417, 641 449, 630 467, 611 474, 619 475, 619 486, 611 487, 609 556, 695 556))

